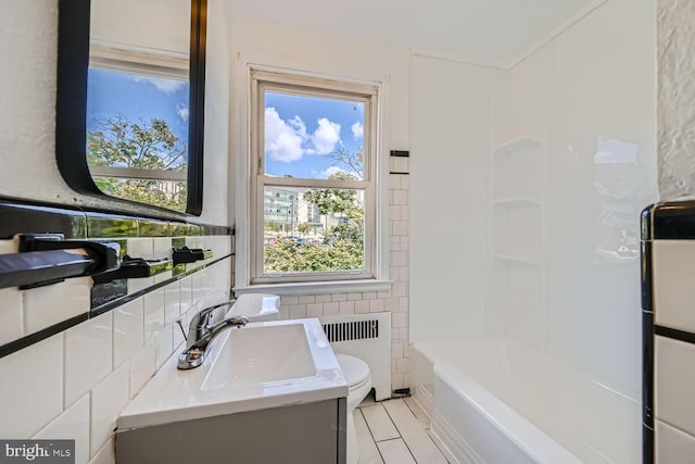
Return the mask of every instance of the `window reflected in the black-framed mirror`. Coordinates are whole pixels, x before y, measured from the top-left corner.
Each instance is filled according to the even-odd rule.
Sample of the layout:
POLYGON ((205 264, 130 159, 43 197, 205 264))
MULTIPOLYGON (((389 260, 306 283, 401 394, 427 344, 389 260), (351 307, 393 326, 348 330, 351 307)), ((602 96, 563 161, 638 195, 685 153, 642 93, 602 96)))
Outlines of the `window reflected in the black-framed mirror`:
POLYGON ((185 212, 189 63, 92 46, 87 164, 111 197, 185 212))

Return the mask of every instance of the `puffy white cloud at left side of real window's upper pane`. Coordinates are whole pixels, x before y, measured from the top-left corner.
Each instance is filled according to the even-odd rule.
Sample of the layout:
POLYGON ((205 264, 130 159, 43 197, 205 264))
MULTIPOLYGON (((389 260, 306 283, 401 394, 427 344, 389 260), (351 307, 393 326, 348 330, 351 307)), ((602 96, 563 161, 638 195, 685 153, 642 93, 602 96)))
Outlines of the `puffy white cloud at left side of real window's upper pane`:
POLYGON ((301 117, 285 122, 275 108, 265 109, 265 152, 286 163, 302 159, 306 126, 301 117))

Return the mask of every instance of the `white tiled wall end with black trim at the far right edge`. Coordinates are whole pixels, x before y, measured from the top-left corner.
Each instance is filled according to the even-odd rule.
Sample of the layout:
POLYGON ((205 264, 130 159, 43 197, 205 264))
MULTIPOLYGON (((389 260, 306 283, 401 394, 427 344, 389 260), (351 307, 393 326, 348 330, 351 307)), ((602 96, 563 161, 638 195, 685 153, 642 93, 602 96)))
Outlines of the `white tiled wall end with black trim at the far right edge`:
POLYGON ((695 449, 695 201, 642 214, 643 462, 695 449))

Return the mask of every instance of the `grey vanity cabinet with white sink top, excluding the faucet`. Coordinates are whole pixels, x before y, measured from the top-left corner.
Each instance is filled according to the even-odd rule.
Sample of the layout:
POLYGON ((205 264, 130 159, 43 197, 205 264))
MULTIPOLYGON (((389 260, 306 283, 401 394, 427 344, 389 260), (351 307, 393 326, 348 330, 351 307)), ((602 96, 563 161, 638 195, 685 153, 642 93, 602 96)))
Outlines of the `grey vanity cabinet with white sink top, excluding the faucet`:
POLYGON ((175 353, 117 419, 116 461, 344 464, 348 384, 318 319, 251 323, 175 353))

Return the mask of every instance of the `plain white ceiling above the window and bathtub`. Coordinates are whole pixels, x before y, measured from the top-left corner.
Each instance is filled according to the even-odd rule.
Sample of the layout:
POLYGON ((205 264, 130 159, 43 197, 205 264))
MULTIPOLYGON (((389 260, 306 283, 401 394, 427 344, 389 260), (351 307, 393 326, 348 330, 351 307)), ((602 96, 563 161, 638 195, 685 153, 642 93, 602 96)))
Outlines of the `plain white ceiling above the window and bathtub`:
POLYGON ((599 0, 227 0, 233 21, 507 64, 599 0))

